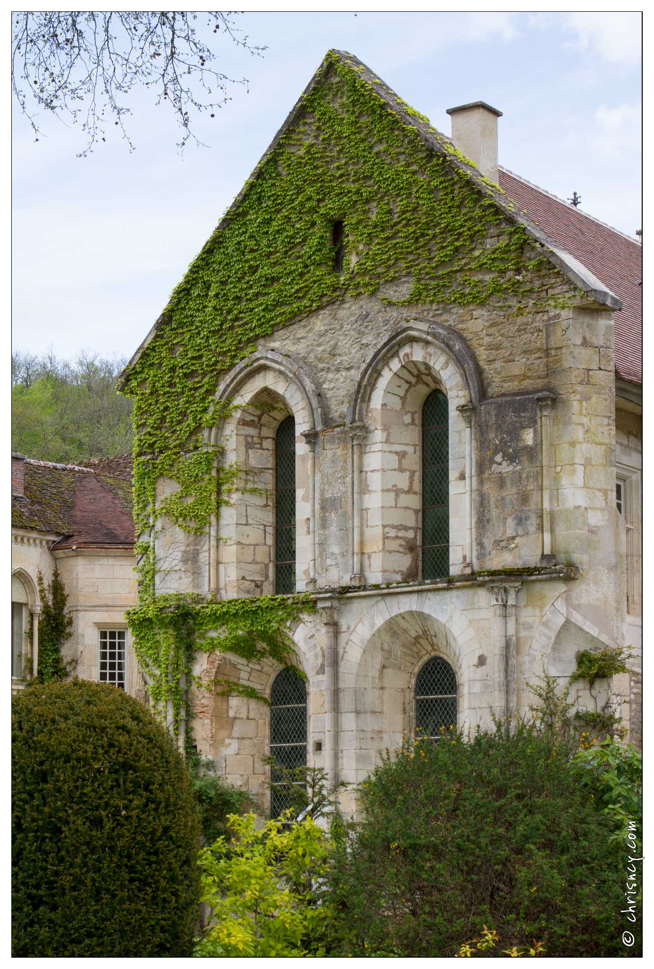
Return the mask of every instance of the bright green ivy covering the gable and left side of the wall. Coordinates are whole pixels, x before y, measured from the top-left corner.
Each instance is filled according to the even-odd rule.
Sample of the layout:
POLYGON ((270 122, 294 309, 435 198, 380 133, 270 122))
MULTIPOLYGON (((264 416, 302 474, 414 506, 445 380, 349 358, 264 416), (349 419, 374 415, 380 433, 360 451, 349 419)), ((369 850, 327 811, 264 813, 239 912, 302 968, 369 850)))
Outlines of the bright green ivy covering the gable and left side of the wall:
MULTIPOLYGON (((184 705, 179 684, 199 643, 245 656, 245 641, 265 627, 268 655, 288 658, 288 624, 308 606, 307 597, 253 606, 155 594, 154 537, 163 520, 202 534, 234 488, 237 469, 207 443, 208 429, 230 413, 229 401, 215 399, 220 375, 274 328, 394 280, 410 283, 405 297, 384 297, 396 305, 529 302, 542 288, 545 260, 497 203, 499 188, 495 197, 483 193, 452 143, 403 102, 391 109, 387 91, 357 60, 327 54, 293 123, 173 291, 124 378, 135 398, 140 536, 140 606, 130 622, 152 695, 161 703, 172 696, 175 723, 184 705), (440 140, 438 151, 425 131, 440 140), (345 232, 343 272, 334 263, 336 222, 345 232), (174 490, 158 501, 161 478, 174 490), (215 629, 223 632, 209 638, 215 629)), ((547 266, 548 278, 553 271, 547 266)))

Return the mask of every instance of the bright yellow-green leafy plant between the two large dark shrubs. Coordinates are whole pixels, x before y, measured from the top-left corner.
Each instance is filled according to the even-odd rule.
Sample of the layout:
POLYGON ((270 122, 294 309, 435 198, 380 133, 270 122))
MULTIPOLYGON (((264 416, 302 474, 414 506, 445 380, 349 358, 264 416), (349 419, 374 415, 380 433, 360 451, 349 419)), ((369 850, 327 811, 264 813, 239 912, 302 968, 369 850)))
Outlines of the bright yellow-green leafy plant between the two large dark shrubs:
POLYGON ((196 955, 324 955, 317 945, 328 909, 322 883, 329 843, 311 818, 228 819, 234 841, 218 838, 200 856, 209 927, 196 955))

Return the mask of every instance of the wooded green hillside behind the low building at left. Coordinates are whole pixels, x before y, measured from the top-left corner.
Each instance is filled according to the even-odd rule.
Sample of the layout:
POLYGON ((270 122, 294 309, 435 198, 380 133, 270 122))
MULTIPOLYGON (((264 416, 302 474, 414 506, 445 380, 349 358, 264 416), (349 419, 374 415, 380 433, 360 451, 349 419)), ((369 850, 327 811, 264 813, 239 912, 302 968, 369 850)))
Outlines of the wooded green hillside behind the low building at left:
POLYGON ((12 355, 12 451, 45 461, 132 452, 132 401, 115 388, 125 359, 12 355))

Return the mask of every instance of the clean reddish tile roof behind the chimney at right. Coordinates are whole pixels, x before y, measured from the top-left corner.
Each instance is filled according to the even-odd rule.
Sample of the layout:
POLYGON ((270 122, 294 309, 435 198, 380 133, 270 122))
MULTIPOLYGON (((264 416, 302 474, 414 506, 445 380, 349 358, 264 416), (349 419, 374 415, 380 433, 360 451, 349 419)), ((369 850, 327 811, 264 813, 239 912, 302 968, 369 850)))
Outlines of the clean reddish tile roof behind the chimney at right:
POLYGON ((642 383, 641 248, 636 239, 557 199, 508 169, 499 183, 557 245, 586 266, 622 300, 615 313, 615 370, 618 377, 642 383))

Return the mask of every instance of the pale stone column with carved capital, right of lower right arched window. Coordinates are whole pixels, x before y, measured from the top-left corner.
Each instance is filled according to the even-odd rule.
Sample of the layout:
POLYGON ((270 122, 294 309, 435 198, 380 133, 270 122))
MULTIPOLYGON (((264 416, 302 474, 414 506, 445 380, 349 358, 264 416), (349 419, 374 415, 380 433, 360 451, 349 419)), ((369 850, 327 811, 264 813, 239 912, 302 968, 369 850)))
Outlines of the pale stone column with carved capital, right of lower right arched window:
POLYGON ((488 582, 492 608, 493 707, 498 716, 517 712, 515 596, 521 582, 488 582))

